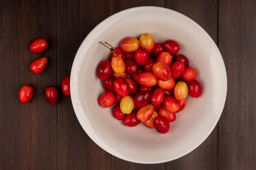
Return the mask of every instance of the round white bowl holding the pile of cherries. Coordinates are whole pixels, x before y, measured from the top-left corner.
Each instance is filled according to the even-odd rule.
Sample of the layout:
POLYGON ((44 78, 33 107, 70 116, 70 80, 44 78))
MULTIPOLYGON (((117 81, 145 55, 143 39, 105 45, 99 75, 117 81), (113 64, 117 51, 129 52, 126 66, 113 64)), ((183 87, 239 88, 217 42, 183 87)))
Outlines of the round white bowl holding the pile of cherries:
POLYGON ((182 157, 197 148, 212 132, 222 113, 227 94, 227 75, 220 51, 202 27, 190 18, 161 7, 136 7, 110 16, 85 38, 71 71, 71 99, 76 116, 88 136, 102 149, 136 163, 162 163, 182 157), (202 84, 198 99, 188 97, 167 134, 139 126, 128 127, 101 108, 104 92, 96 75, 99 62, 110 51, 99 43, 117 47, 123 38, 150 33, 155 41, 175 40, 180 52, 195 68, 202 84))

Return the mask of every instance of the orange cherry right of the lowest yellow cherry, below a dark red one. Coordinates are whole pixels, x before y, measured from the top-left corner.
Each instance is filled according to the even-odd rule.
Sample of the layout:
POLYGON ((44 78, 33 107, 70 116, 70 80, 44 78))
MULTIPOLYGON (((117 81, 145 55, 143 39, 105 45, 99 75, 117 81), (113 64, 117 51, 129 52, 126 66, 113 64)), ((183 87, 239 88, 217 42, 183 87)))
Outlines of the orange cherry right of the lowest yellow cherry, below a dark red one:
POLYGON ((147 104, 146 106, 144 106, 138 110, 137 118, 140 121, 145 122, 148 119, 150 119, 150 117, 153 115, 153 113, 154 113, 153 104, 147 104))

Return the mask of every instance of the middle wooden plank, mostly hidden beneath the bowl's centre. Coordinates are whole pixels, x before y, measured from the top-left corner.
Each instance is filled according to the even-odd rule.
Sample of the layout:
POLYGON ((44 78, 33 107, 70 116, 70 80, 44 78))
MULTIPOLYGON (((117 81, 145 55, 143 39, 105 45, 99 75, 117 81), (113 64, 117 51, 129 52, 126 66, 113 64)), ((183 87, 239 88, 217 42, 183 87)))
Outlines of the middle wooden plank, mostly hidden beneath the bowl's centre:
MULTIPOLYGON (((111 4, 111 11, 112 14, 122 11, 124 9, 132 8, 132 7, 139 7, 139 6, 159 6, 165 7, 164 0, 144 0, 144 1, 135 1, 135 0, 123 0, 120 3, 119 0, 112 0, 111 4)), ((132 163, 128 161, 124 161, 117 157, 112 156, 112 170, 165 170, 165 163, 159 164, 139 164, 139 163, 132 163)))

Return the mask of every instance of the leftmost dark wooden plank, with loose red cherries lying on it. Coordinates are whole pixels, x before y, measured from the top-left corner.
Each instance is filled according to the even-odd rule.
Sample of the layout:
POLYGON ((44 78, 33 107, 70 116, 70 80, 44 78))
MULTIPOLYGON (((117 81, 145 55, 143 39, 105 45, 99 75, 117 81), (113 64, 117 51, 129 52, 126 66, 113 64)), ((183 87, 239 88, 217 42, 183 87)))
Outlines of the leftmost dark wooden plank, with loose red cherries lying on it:
POLYGON ((57 107, 44 97, 56 86, 56 2, 0 1, 1 170, 57 169, 57 107), (42 54, 29 51, 36 38, 47 38, 49 64, 35 75, 29 69, 42 54), (34 86, 31 102, 21 104, 22 85, 34 86))

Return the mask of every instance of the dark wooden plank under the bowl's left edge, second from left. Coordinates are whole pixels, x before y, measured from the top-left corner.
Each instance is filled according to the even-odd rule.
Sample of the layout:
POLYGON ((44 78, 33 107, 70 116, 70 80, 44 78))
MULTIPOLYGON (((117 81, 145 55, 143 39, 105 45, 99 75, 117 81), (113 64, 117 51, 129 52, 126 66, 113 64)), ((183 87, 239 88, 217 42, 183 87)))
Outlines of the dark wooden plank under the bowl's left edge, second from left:
MULTIPOLYGON (((110 16, 105 0, 58 0, 58 86, 70 75, 80 44, 99 22, 110 16)), ((111 155, 86 135, 74 113, 70 96, 58 107, 58 152, 60 170, 110 170, 111 155)))

